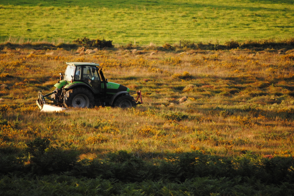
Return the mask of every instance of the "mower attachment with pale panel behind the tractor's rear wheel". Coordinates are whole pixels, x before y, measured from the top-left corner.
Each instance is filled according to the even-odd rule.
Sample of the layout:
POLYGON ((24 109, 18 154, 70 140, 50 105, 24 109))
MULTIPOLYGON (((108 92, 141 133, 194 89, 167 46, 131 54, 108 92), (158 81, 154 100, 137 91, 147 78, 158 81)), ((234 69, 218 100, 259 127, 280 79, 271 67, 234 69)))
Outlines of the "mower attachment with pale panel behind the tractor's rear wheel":
POLYGON ((66 109, 66 108, 61 108, 61 107, 58 107, 58 106, 55 106, 55 105, 49 105, 49 104, 46 103, 45 98, 53 101, 53 103, 56 103, 55 99, 52 99, 52 98, 48 97, 48 96, 52 95, 53 93, 55 93, 55 92, 43 95, 42 91, 38 92, 38 99, 36 100, 36 104, 40 108, 41 112, 60 112, 60 111, 64 111, 64 110, 69 110, 69 109, 66 109))

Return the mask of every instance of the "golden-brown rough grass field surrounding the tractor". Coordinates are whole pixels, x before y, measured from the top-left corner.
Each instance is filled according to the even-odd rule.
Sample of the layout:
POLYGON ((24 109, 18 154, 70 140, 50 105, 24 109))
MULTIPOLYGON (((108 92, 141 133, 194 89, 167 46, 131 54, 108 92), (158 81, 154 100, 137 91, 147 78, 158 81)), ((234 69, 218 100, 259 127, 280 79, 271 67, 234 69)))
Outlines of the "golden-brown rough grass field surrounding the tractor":
POLYGON ((36 137, 46 137, 72 142, 83 157, 118 150, 196 149, 289 156, 294 136, 293 55, 235 49, 140 54, 100 50, 77 56, 62 49, 6 48, 0 54, 0 83, 7 87, 0 89, 0 109, 9 125, 0 125, 1 146, 23 148, 36 137), (133 92, 142 90, 144 104, 126 110, 40 113, 37 91, 52 91, 65 62, 75 61, 101 63, 109 81, 133 92))

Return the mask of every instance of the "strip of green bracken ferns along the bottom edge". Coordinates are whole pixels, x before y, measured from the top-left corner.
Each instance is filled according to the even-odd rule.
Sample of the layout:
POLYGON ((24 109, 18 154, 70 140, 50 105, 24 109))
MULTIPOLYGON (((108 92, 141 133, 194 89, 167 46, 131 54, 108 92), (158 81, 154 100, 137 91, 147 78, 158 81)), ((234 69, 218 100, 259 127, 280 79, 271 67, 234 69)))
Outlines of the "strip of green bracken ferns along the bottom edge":
POLYGON ((0 177, 0 195, 292 195, 293 184, 242 183, 241 178, 194 178, 183 183, 165 180, 117 183, 102 178, 67 175, 0 177))

